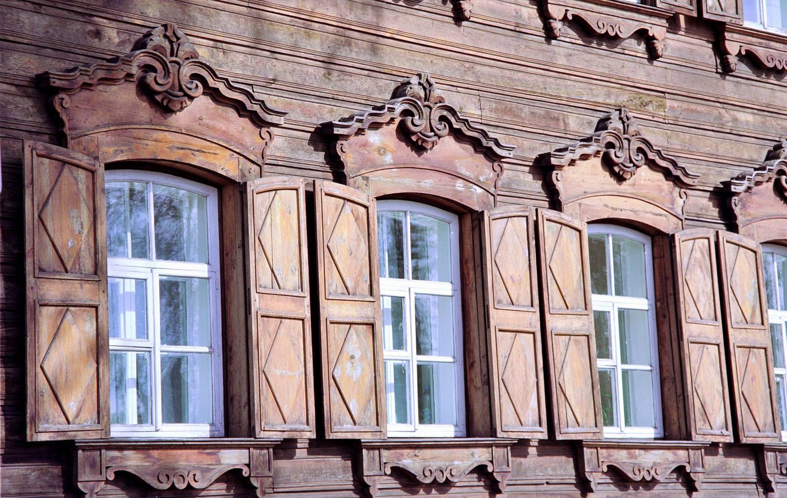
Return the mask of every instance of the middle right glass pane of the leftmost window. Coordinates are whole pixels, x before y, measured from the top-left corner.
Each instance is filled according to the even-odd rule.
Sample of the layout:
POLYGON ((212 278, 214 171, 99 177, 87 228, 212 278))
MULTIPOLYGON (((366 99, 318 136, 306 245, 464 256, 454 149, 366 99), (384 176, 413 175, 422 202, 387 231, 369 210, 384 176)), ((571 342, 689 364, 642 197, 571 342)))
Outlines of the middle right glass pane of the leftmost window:
POLYGON ((161 344, 210 345, 209 282, 195 277, 159 278, 161 344))

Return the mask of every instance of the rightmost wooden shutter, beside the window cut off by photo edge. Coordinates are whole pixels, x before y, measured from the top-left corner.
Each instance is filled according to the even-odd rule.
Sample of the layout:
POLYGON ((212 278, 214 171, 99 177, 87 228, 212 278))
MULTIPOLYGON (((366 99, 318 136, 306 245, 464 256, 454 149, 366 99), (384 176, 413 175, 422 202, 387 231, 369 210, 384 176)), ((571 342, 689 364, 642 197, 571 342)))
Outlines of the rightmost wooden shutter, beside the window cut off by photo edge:
POLYGON ((742 235, 719 231, 718 240, 738 439, 741 443, 781 442, 763 253, 759 244, 742 235))

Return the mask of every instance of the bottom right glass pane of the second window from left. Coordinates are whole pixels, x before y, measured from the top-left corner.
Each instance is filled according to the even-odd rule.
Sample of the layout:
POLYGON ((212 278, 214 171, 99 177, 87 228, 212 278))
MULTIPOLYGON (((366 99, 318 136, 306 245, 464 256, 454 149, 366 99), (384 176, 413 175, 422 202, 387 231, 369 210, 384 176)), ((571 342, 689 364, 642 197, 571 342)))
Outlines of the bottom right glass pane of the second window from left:
POLYGON ((456 364, 418 363, 418 422, 456 425, 456 364))

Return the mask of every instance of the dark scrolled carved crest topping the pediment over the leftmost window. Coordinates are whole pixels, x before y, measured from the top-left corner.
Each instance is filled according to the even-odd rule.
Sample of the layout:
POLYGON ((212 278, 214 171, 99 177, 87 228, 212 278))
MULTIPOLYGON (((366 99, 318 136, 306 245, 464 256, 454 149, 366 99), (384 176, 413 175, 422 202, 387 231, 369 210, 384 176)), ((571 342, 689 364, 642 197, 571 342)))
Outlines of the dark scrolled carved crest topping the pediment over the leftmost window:
POLYGON ((186 109, 205 90, 249 116, 258 124, 282 124, 285 112, 272 109, 246 88, 238 87, 199 58, 194 45, 175 24, 162 24, 147 31, 131 52, 105 62, 73 68, 65 72, 44 72, 42 87, 59 94, 55 104, 68 106, 68 94, 101 84, 136 80, 165 109, 177 113, 186 109))

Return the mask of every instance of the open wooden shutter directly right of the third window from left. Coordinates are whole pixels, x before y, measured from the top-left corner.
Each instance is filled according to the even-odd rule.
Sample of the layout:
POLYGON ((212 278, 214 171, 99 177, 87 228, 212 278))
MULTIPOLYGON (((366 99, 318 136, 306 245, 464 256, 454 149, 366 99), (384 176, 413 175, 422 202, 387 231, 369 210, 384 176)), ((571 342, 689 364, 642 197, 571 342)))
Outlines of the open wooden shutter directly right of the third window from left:
POLYGON ((684 392, 692 441, 732 441, 715 231, 672 234, 684 392))

